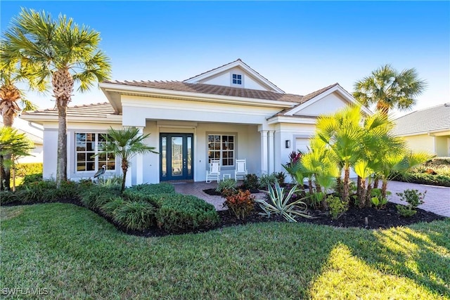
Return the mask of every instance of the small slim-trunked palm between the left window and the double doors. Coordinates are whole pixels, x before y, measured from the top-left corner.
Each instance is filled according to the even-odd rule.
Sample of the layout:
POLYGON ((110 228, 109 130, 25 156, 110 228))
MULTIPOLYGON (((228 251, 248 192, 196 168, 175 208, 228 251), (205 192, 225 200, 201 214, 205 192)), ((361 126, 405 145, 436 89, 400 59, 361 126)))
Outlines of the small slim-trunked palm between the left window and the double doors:
POLYGON ((108 152, 113 153, 115 157, 120 157, 120 159, 122 159, 121 166, 124 176, 122 178, 121 191, 123 192, 125 189, 125 181, 127 178, 127 171, 131 158, 133 158, 136 154, 158 152, 155 152, 154 147, 150 147, 143 143, 143 140, 150 136, 150 133, 142 136, 139 133, 139 129, 134 127, 117 130, 110 128, 103 136, 105 137, 106 141, 112 141, 109 143, 105 143, 105 145, 101 147, 101 152, 99 152, 98 155, 108 152))

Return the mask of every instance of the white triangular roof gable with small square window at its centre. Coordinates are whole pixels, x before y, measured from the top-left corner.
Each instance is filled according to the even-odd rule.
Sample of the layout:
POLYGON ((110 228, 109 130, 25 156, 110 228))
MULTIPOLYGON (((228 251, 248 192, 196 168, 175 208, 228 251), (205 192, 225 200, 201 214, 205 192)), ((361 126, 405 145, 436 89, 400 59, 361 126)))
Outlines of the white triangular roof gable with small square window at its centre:
POLYGON ((221 65, 202 74, 183 81, 188 84, 212 84, 218 86, 230 86, 241 89, 254 89, 260 91, 272 91, 284 93, 275 84, 253 70, 240 58, 226 65, 221 65))

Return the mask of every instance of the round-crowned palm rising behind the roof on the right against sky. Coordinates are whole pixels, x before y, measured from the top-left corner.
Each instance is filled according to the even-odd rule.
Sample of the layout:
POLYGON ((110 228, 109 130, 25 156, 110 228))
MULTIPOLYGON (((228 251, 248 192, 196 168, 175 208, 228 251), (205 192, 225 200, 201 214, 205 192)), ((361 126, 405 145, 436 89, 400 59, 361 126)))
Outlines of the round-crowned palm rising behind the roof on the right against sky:
POLYGON ((362 105, 376 104, 376 109, 387 115, 393 108, 409 110, 416 104, 414 97, 420 95, 426 85, 413 68, 397 72, 391 65, 384 65, 371 76, 356 81, 353 96, 362 105))

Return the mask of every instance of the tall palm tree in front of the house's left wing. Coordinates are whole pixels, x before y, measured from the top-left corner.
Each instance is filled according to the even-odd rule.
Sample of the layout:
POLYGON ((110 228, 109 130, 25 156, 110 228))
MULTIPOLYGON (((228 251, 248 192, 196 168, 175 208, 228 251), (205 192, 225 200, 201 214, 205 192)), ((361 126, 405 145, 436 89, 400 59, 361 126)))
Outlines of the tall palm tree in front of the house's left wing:
POLYGON ((22 9, 13 26, 4 33, 6 63, 20 61, 28 77, 38 84, 51 80, 58 107, 58 158, 56 183, 67 179, 67 107, 75 84, 84 92, 97 81, 110 78, 111 66, 105 53, 98 50, 100 34, 72 18, 22 9))

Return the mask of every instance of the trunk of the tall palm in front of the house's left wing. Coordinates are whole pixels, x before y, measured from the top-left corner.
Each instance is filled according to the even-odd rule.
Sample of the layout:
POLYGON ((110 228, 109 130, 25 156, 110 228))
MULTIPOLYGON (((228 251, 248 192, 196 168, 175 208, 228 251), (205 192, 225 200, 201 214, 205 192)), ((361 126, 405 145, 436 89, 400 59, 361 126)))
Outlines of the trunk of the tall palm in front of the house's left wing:
POLYGON ((68 179, 68 103, 57 99, 58 103, 58 158, 56 160, 56 187, 60 188, 63 181, 68 179))

